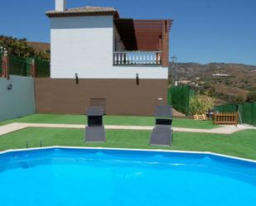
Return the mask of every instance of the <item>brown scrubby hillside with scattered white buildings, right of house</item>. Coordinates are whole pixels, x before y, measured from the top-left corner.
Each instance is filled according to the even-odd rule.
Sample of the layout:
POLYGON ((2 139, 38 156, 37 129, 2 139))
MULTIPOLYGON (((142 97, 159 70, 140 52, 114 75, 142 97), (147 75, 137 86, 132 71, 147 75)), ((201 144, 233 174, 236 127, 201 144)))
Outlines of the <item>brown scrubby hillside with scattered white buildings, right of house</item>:
MULTIPOLYGON (((170 79, 171 70, 170 63, 170 79)), ((210 93, 212 97, 221 99, 220 102, 243 102, 246 101, 249 93, 256 93, 254 65, 178 63, 177 71, 179 80, 190 80, 187 83, 200 93, 210 93)))

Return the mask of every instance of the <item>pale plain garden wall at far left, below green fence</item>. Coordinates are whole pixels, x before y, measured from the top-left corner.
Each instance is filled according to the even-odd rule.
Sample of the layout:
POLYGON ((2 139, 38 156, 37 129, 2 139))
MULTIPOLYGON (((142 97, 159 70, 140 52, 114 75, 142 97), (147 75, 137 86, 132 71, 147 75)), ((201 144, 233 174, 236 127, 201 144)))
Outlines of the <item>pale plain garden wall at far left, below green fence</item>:
POLYGON ((0 121, 36 113, 34 79, 10 75, 0 78, 0 121))

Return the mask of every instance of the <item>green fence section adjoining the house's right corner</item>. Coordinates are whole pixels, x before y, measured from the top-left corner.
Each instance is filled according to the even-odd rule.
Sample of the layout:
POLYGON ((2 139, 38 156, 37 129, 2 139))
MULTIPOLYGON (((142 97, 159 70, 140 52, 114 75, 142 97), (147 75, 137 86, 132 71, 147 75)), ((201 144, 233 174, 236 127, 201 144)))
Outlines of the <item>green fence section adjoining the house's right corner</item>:
POLYGON ((177 111, 189 114, 190 99, 195 97, 196 92, 189 85, 175 86, 168 89, 168 104, 177 111))

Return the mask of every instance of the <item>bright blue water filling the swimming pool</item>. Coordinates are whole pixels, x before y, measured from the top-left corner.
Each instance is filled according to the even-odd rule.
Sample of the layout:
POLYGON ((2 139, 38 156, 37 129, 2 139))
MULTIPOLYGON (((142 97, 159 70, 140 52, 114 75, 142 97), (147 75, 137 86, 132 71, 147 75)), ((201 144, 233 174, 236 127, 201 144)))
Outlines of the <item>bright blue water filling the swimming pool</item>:
POLYGON ((256 164, 161 151, 0 155, 1 206, 255 206, 256 164))

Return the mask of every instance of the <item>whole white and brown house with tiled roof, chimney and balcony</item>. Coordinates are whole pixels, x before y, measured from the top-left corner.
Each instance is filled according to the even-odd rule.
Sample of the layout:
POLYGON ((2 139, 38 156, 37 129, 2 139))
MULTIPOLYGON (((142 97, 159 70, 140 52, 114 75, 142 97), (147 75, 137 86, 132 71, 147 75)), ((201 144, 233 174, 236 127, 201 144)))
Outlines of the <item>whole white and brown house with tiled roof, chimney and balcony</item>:
POLYGON ((37 113, 152 115, 167 103, 171 20, 120 18, 114 7, 46 12, 51 21, 51 78, 35 79, 37 113))

